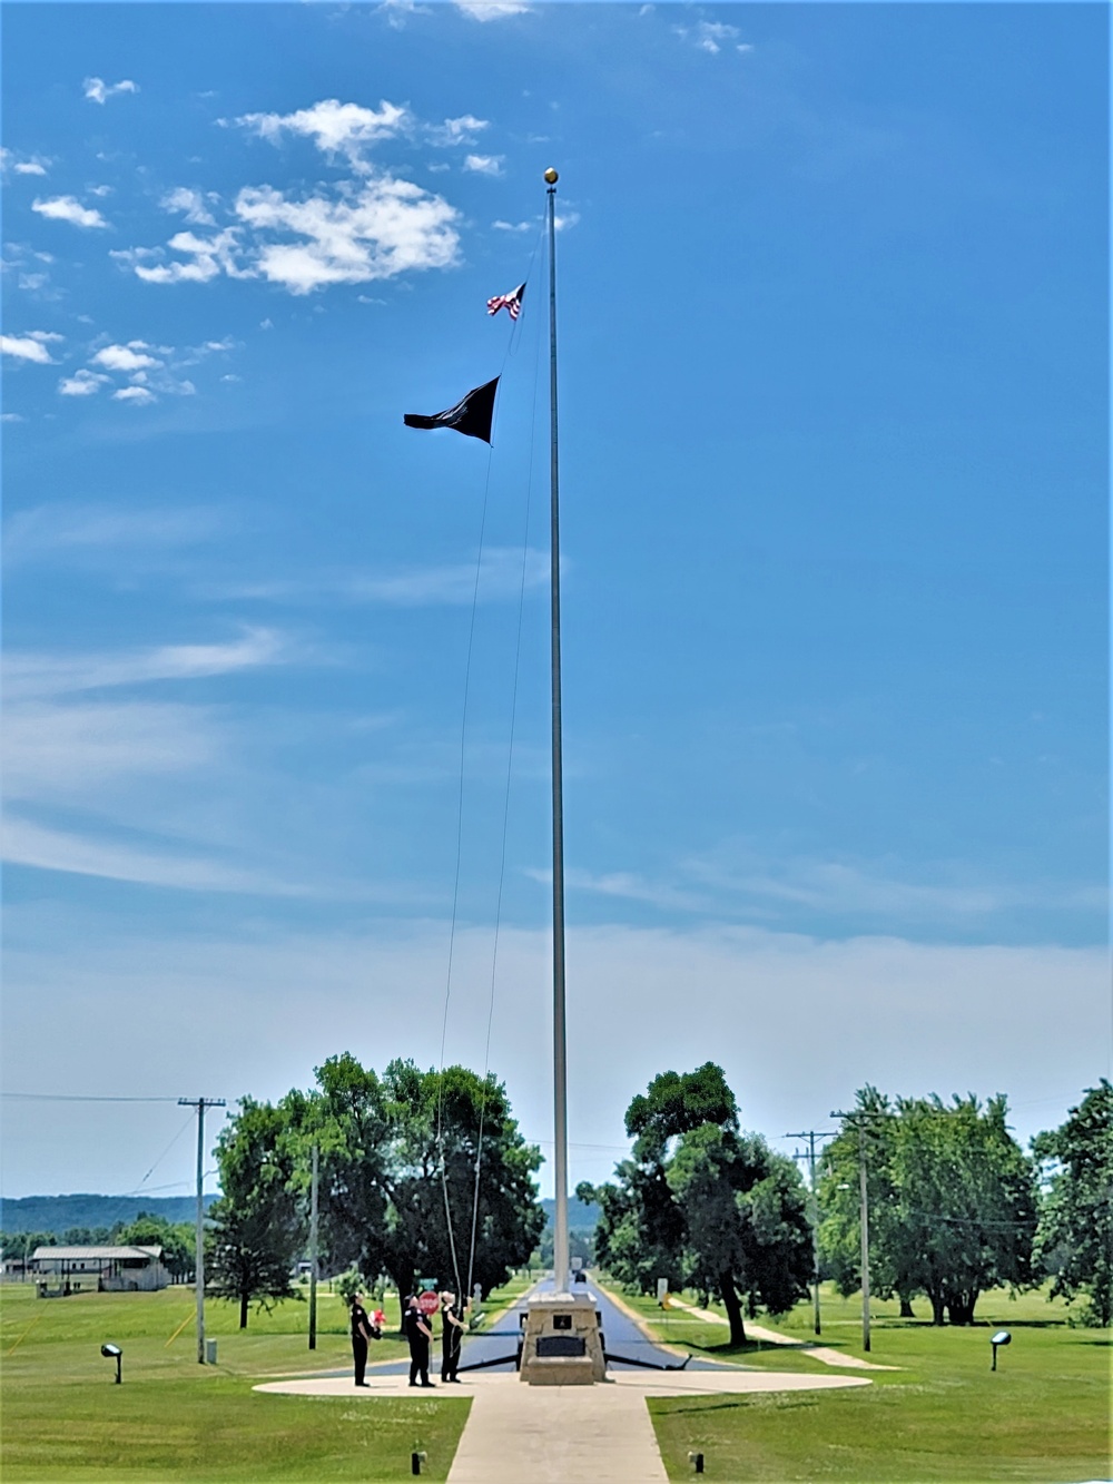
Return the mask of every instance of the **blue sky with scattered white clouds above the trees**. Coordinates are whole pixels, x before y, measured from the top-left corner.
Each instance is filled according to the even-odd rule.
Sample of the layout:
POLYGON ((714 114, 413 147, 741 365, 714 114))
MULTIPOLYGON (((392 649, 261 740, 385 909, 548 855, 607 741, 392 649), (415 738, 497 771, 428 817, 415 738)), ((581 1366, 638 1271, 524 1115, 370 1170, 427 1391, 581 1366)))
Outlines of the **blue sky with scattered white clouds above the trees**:
MULTIPOLYGON (((435 1064, 459 821, 448 1055, 494 979, 545 1141, 555 165, 573 1177, 706 1058, 773 1137, 865 1080, 1060 1122, 1109 1070, 1104 7, 4 37, 6 1089, 435 1064), (402 426, 500 372, 490 454, 402 426)), ((4 1113, 9 1196, 184 1126, 4 1113)))

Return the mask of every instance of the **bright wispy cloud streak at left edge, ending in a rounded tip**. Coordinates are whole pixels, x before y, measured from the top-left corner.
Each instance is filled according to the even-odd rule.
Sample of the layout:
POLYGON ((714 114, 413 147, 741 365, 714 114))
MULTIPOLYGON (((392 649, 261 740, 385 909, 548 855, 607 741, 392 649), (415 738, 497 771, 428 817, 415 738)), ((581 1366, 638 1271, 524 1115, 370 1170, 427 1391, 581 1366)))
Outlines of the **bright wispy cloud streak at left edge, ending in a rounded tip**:
POLYGON ((159 680, 197 680, 229 675, 289 659, 291 646, 273 629, 246 629, 226 644, 163 644, 132 651, 85 654, 9 654, 3 663, 9 700, 59 696, 113 686, 139 686, 159 680))

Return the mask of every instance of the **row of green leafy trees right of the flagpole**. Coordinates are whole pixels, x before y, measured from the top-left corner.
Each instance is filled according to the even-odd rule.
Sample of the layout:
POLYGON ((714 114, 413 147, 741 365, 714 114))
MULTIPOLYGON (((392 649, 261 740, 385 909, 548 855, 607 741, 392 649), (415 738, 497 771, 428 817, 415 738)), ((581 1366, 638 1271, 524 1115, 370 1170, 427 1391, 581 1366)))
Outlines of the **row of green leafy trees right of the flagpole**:
MULTIPOLYGON (((818 1180, 821 1276, 861 1285, 859 1169, 870 1278, 880 1297, 930 1304, 935 1324, 972 1324, 979 1294, 1052 1279, 1079 1322, 1113 1321, 1113 1086, 1088 1089, 1025 1153, 1003 1097, 950 1104, 858 1092, 818 1180)), ((582 1184, 601 1206, 595 1252, 620 1282, 695 1288, 721 1300, 732 1343, 745 1318, 785 1313, 813 1273, 809 1192, 795 1166, 739 1126, 723 1071, 662 1073, 626 1110, 631 1158, 582 1184)))

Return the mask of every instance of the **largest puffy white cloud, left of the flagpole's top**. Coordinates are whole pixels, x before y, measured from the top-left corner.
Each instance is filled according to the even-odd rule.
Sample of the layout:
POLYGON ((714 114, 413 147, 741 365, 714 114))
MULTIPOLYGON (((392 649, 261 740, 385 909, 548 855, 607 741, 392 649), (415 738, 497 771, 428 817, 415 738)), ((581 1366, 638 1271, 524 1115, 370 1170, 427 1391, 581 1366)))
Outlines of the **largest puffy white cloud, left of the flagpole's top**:
POLYGON ((380 177, 338 199, 291 200, 270 186, 245 188, 236 215, 257 234, 255 267, 292 294, 367 283, 456 263, 456 208, 408 181, 380 177), (292 236, 267 242, 264 234, 292 236))

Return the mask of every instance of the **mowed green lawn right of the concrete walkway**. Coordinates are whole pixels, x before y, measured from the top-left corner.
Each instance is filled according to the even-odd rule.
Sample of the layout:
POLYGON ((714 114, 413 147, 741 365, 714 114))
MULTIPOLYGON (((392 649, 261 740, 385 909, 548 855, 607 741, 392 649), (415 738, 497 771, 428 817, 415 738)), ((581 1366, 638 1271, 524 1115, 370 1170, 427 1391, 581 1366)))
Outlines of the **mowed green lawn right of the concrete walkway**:
MULTIPOLYGON (((724 1327, 678 1310, 665 1319, 653 1298, 622 1297, 659 1337, 693 1353, 763 1370, 838 1374, 803 1350, 760 1342, 733 1349, 724 1327)), ((979 1322, 954 1330, 899 1319, 895 1303, 876 1303, 865 1356, 861 1300, 825 1290, 822 1307, 818 1342, 810 1304, 760 1322, 901 1370, 846 1370, 873 1382, 847 1391, 650 1401, 669 1478, 693 1475, 689 1453, 703 1453, 706 1475, 723 1481, 1070 1484, 1112 1477, 1109 1331, 1068 1328, 1064 1307, 1042 1294, 985 1294, 979 1322), (993 1374, 990 1334, 997 1328, 1012 1333, 1012 1345, 999 1352, 993 1374)))

